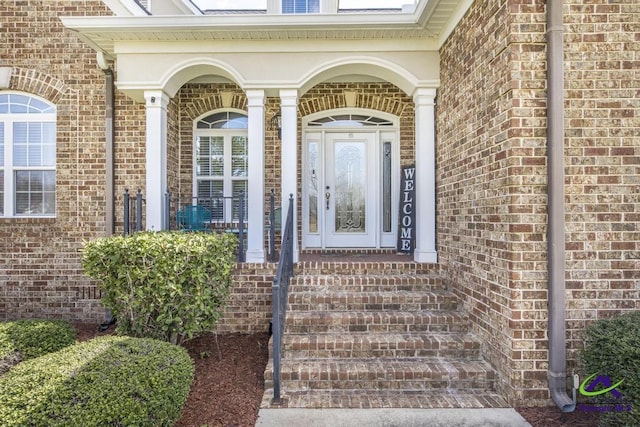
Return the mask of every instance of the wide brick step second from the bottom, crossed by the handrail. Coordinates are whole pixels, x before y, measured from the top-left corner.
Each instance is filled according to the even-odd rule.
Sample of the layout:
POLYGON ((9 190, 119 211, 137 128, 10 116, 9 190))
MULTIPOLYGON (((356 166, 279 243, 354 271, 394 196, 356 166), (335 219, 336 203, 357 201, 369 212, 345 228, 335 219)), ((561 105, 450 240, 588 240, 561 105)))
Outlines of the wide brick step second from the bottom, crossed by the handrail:
MULTIPOLYGON (((285 359, 281 388, 303 390, 493 390, 494 371, 484 361, 431 359, 285 359)), ((265 388, 273 388, 273 362, 265 388)))

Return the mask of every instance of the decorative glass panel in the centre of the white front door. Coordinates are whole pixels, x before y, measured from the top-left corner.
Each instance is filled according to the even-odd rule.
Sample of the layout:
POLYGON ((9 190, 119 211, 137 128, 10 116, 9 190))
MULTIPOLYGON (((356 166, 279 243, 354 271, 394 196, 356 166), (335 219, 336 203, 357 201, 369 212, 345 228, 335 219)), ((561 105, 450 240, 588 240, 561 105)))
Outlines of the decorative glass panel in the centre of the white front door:
POLYGON ((335 143, 335 232, 365 232, 366 146, 335 143))

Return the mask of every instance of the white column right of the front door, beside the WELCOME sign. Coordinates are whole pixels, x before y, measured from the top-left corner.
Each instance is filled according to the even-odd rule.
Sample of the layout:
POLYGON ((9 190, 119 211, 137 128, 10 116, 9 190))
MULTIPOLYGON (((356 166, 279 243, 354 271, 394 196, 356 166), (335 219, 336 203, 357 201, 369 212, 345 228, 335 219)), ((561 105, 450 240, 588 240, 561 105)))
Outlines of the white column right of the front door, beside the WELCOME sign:
POLYGON ((416 109, 416 262, 438 262, 436 252, 436 90, 419 88, 416 109))

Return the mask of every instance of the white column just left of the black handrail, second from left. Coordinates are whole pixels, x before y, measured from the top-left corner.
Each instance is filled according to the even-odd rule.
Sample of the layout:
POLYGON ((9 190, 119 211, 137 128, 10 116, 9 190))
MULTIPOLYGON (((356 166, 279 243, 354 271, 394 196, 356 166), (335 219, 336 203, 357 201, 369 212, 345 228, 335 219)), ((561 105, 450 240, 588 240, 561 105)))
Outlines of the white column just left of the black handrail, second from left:
POLYGON ((249 184, 247 262, 264 262, 264 90, 247 90, 249 184))

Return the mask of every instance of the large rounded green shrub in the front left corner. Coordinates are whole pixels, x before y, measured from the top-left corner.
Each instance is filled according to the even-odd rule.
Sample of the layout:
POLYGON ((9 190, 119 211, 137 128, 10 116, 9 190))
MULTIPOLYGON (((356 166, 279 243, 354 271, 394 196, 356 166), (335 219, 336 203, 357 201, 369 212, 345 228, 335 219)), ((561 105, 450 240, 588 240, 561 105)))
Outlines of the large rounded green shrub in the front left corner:
POLYGON ((95 338, 25 361, 0 377, 0 425, 173 426, 193 372, 182 347, 95 338))

